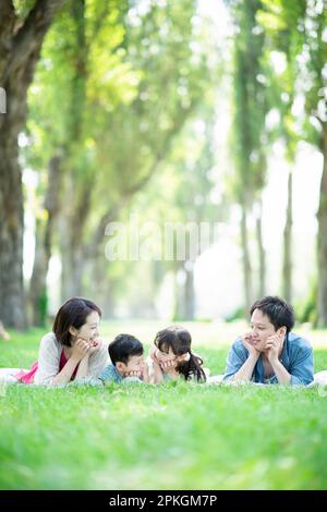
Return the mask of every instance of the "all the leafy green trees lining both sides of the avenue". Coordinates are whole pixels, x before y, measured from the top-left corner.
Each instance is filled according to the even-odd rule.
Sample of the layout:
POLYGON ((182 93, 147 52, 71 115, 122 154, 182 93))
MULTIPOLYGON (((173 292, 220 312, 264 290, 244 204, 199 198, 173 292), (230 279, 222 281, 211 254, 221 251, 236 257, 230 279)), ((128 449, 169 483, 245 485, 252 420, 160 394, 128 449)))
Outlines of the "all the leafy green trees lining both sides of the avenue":
MULTIPOLYGON (((317 0, 226 0, 226 5, 234 29, 222 57, 215 27, 199 19, 195 0, 0 1, 0 86, 8 96, 7 114, 0 114, 0 310, 7 325, 26 325, 27 303, 32 321, 45 321, 53 254, 62 263, 62 298, 90 294, 110 313, 114 301, 130 293, 126 276, 135 266, 106 261, 105 229, 126 219, 133 206, 145 219, 185 223, 228 221, 229 206, 238 204, 249 308, 266 291, 262 193, 276 139, 283 141, 289 166, 281 276, 288 300, 296 145, 306 139, 324 155, 317 313, 327 325, 326 9, 317 0), (281 72, 271 63, 274 52, 284 60, 281 72), (226 83, 233 172, 217 199, 215 111, 226 83), (305 98, 300 120, 293 113, 299 96, 305 98), (271 109, 280 120, 274 127, 267 123, 271 109), (39 176, 35 261, 25 294, 20 164, 39 176), (257 278, 249 247, 253 217, 257 278)), ((147 282, 148 297, 167 272, 174 276, 175 318, 194 317, 189 256, 143 270, 138 265, 135 273, 147 282)))

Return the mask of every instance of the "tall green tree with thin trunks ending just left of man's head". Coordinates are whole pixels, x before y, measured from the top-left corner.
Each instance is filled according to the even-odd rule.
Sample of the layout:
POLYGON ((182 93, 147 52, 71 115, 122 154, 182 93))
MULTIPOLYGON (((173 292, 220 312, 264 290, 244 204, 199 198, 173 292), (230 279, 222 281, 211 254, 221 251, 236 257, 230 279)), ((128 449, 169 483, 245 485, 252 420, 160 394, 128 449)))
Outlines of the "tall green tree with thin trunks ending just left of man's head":
MULTIPOLYGON (((244 277, 244 307, 253 302, 254 280, 249 240, 249 215, 255 203, 261 205, 265 183, 266 156, 263 149, 267 111, 265 83, 262 81, 264 33, 258 29, 258 0, 228 2, 235 25, 233 49, 233 124, 232 148, 235 162, 234 195, 241 206, 241 245, 244 277)), ((257 218, 261 290, 264 289, 265 254, 262 242, 261 215, 257 218)))

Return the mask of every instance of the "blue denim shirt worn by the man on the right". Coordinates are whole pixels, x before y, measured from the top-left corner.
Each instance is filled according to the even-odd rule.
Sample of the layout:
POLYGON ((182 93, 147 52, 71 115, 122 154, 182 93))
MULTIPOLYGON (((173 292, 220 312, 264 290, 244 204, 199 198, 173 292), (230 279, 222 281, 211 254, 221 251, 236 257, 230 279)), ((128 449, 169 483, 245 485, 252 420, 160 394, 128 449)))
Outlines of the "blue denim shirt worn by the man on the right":
MULTIPOLYGON (((225 370, 223 380, 229 380, 243 366, 249 357, 249 351, 243 345, 241 338, 232 344, 225 370)), ((314 358, 310 343, 294 332, 290 332, 283 342, 280 363, 291 374, 291 385, 308 385, 314 379, 314 358)), ((262 357, 257 359, 252 375, 253 382, 278 383, 276 375, 265 379, 262 357)))

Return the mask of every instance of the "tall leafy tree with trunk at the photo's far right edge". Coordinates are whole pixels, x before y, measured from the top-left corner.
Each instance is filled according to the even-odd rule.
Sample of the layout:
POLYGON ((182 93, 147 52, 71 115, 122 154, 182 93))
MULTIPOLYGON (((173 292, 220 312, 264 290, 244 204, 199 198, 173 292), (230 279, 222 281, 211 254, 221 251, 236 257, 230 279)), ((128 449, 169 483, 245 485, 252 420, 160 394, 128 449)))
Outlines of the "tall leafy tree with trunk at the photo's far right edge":
MULTIPOLYGON (((277 32, 279 48, 287 54, 293 93, 305 98, 301 136, 323 155, 319 207, 317 212, 317 313, 318 324, 327 326, 327 99, 326 99, 326 2, 318 0, 264 0, 266 25, 277 32)), ((289 92, 286 90, 288 94, 289 92)), ((294 97, 294 96, 293 96, 294 97)), ((290 126, 289 117, 286 117, 290 126)), ((294 137, 289 136, 288 141, 294 137)), ((288 144, 287 144, 288 146, 288 144)), ((289 149, 289 148, 288 148, 289 149)), ((294 155, 294 148, 289 151, 294 155)), ((286 260, 287 261, 287 260, 286 260)), ((288 265, 289 266, 289 265, 288 265)))

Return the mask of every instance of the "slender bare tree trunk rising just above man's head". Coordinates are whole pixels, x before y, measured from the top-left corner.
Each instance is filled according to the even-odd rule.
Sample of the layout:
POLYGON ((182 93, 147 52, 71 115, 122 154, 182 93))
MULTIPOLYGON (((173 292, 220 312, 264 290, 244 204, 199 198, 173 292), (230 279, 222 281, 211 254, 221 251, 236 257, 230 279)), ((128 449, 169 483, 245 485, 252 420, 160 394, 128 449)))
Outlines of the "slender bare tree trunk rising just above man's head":
POLYGON ((293 224, 293 173, 288 175, 287 218, 283 229, 283 261, 281 276, 282 297, 292 302, 292 224, 293 224))

